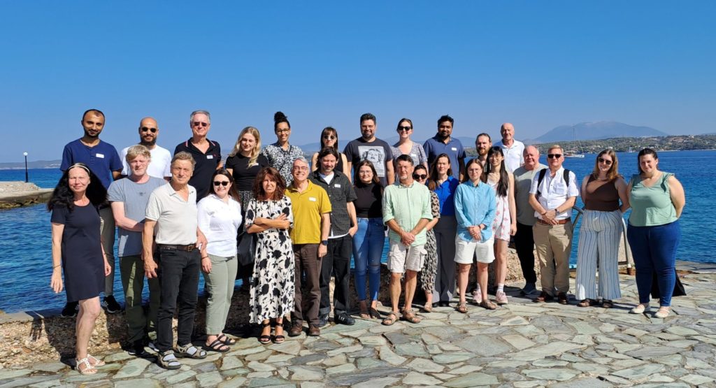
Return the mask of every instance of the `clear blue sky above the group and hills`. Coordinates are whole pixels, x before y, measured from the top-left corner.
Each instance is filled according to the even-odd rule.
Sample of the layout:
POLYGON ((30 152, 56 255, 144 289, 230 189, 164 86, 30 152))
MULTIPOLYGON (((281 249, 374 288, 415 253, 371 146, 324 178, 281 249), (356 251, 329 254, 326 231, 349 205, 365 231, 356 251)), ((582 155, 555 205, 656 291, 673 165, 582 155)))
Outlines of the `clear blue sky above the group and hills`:
POLYGON ((0 162, 59 159, 89 107, 117 148, 153 116, 173 150, 195 109, 224 150, 247 125, 273 142, 276 110, 297 145, 326 125, 357 137, 364 112, 379 137, 410 117, 421 140, 443 114, 470 137, 505 121, 518 139, 599 120, 716 132, 713 1, 197 4, 4 1, 0 162))

